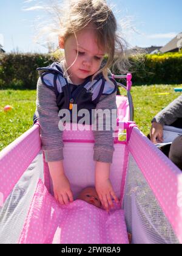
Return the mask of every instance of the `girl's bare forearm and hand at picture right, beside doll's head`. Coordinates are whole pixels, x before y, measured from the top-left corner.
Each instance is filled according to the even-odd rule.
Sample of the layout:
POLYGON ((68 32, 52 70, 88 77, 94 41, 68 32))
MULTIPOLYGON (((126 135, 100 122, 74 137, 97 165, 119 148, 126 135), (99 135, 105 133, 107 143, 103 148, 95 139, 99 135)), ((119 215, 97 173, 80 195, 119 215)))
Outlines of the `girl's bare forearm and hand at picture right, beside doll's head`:
POLYGON ((109 179, 110 165, 107 163, 96 163, 95 169, 95 188, 103 207, 109 211, 113 207, 112 197, 118 204, 118 198, 113 191, 112 184, 109 179))

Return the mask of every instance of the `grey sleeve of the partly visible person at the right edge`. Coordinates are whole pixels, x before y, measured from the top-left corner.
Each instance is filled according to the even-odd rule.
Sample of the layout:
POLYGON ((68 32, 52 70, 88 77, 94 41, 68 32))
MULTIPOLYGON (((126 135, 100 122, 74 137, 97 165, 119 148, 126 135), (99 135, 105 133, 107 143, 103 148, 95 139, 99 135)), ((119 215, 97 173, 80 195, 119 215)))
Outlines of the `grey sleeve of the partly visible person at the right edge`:
POLYGON ((152 122, 160 123, 164 126, 174 123, 178 118, 182 118, 182 95, 158 113, 152 119, 152 122))

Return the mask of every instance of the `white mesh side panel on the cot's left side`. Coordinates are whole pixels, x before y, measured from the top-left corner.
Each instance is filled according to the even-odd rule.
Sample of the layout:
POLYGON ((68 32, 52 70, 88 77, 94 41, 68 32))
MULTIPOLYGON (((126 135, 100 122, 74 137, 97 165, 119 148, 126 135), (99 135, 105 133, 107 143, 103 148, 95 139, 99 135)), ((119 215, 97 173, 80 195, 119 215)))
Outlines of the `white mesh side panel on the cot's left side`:
POLYGON ((0 207, 0 244, 18 243, 38 180, 43 180, 42 152, 16 183, 3 207, 0 207))

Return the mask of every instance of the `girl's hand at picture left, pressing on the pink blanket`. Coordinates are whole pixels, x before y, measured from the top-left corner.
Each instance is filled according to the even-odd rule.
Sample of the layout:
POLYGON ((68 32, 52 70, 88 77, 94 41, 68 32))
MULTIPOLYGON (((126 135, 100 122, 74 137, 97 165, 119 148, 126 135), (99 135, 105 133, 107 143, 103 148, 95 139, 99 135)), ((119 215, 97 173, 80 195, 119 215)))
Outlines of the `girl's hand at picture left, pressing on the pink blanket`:
POLYGON ((70 189, 70 183, 65 174, 53 180, 53 191, 56 201, 60 204, 69 204, 73 202, 73 194, 70 189))

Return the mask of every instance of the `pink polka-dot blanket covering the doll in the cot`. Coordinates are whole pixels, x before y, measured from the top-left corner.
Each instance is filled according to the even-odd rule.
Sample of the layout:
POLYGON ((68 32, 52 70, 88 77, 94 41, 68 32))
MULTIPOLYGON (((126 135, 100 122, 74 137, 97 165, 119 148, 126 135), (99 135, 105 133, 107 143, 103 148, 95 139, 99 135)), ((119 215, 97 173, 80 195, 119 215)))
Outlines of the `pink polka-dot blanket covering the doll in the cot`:
POLYGON ((58 204, 39 180, 19 243, 128 244, 124 212, 107 213, 87 202, 58 204))

